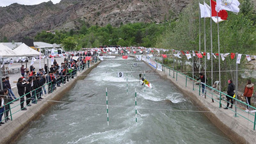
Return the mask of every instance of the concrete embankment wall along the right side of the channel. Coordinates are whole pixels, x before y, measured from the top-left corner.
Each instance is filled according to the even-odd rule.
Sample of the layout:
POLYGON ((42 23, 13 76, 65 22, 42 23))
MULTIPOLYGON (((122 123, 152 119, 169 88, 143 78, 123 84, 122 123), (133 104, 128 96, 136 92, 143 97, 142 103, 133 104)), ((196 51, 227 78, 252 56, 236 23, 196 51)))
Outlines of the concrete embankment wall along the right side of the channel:
MULTIPOLYGON (((148 65, 147 62, 145 63, 148 65)), ((150 65, 148 66, 151 67, 150 65)), ((180 90, 180 92, 184 93, 186 97, 188 97, 196 106, 198 106, 200 111, 205 111, 204 115, 207 116, 207 118, 222 132, 224 132, 234 143, 255 143, 256 131, 253 131, 253 124, 243 118, 243 116, 249 118, 250 115, 248 113, 240 110, 239 113, 241 115, 235 117, 233 111, 223 109, 225 107, 219 108, 218 102, 212 102, 212 99, 209 97, 205 99, 204 97, 198 96, 198 91, 193 90, 194 81, 188 80, 188 86, 186 87, 186 76, 182 76, 182 74, 176 75, 175 72, 173 77, 173 71, 165 67, 163 72, 156 70, 153 67, 151 68, 164 79, 171 81, 180 90), (177 81, 176 76, 179 77, 177 81)), ((198 89, 198 86, 195 87, 198 89)), ((254 116, 250 116, 249 119, 254 120, 254 116)))

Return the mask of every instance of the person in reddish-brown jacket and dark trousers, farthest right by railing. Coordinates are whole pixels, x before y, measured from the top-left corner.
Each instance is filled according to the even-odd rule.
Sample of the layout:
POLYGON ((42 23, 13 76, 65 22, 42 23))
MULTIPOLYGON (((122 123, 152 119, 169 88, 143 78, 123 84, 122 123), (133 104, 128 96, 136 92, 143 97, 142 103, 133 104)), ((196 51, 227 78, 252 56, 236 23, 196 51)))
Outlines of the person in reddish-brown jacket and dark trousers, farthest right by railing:
MULTIPOLYGON (((252 83, 252 81, 250 79, 248 79, 247 84, 244 88, 244 97, 246 99, 246 104, 248 104, 249 106, 251 105, 251 97, 253 94, 253 86, 254 84, 252 83)), ((246 108, 246 112, 250 111, 249 106, 247 106, 246 108)))

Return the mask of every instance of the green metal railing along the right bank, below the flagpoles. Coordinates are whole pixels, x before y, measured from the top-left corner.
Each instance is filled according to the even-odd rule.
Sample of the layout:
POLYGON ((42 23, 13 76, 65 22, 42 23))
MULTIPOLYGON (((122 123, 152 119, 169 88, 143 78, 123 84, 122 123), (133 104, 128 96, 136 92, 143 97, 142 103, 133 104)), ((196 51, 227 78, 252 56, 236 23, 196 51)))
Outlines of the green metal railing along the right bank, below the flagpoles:
MULTIPOLYGON (((199 82, 197 81, 196 79, 193 79, 192 77, 189 77, 187 76, 186 74, 183 74, 182 72, 179 72, 178 70, 175 70, 171 67, 168 67, 167 65, 164 65, 163 63, 161 64, 163 65, 163 71, 165 72, 166 70, 164 70, 165 68, 168 68, 169 69, 169 76, 170 77, 173 77, 173 79, 175 79, 176 81, 178 81, 178 77, 184 79, 184 85, 186 87, 188 87, 188 83, 191 83, 192 85, 192 90, 193 91, 198 91, 198 95, 200 95, 201 93, 201 83, 199 83, 199 86, 195 86, 195 82, 199 82), (173 71, 173 76, 171 76, 171 70, 173 71), (178 75, 179 74, 179 75, 178 75)), ((205 99, 206 97, 209 97, 210 99, 212 99, 212 102, 218 102, 219 103, 219 108, 221 108, 221 105, 223 104, 227 104, 227 100, 224 100, 223 98, 221 98, 221 96, 226 96, 226 97, 230 97, 230 95, 227 95, 226 93, 223 93, 223 92, 220 92, 219 90, 216 90, 215 88, 212 88, 212 86, 209 86, 207 84, 204 84, 205 85, 205 90, 206 90, 206 95, 204 96, 205 99), (226 103, 224 103, 226 102, 226 103)), ((256 125, 256 115, 255 113, 248 113, 248 112, 245 112, 243 109, 239 108, 239 106, 243 105, 243 106, 248 106, 248 108, 251 108, 253 110, 256 110, 255 107, 253 106, 250 106, 248 104, 246 104, 245 102, 237 99, 237 98, 233 98, 233 97, 230 97, 230 99, 233 99, 234 100, 234 104, 232 104, 232 106, 234 106, 234 109, 236 110, 233 110, 231 108, 228 108, 232 111, 234 111, 234 116, 237 117, 237 115, 245 118, 246 120, 248 120, 248 122, 252 122, 253 124, 253 130, 255 130, 255 125, 256 125), (239 104, 235 104, 235 101, 237 101, 237 103, 239 104), (237 109, 240 111, 237 111, 237 109), (245 113, 248 113, 249 115, 251 116, 254 116, 254 120, 250 120, 249 118, 246 118, 246 116, 244 116, 243 114, 245 113)), ((230 102, 229 102, 230 103, 230 102)))

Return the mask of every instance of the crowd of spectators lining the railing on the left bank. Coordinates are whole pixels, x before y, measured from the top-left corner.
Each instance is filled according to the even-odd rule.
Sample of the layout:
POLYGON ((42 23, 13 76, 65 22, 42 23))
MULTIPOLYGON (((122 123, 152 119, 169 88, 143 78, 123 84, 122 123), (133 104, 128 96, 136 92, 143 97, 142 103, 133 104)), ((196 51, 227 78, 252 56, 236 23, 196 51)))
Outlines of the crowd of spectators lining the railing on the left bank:
MULTIPOLYGON (((90 60, 86 60, 85 56, 79 56, 76 60, 73 57, 65 58, 61 65, 54 60, 50 68, 45 65, 44 68, 39 68, 38 72, 36 72, 36 68, 33 65, 29 68, 25 68, 24 65, 20 67, 22 77, 17 81, 17 90, 20 99, 20 109, 22 111, 26 111, 26 107, 31 106, 31 104, 36 104, 38 101, 43 100, 43 95, 54 92, 58 86, 70 81, 70 79, 76 76, 77 71, 84 70, 87 67, 89 68, 90 64, 97 62, 96 56, 93 56, 90 60)), ((10 77, 8 76, 2 79, 3 90, 0 91, 0 126, 4 124, 2 122, 4 113, 5 120, 10 120, 8 115, 10 104, 13 104, 13 101, 19 100, 12 92, 9 79, 10 77)))

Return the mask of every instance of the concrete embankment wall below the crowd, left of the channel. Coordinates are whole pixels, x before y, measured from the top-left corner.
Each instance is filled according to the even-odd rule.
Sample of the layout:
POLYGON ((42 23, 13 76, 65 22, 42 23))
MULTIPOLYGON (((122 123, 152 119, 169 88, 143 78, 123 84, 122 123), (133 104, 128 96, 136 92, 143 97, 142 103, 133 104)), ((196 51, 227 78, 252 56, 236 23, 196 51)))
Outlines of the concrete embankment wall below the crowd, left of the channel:
POLYGON ((6 124, 1 125, 0 143, 10 144, 17 140, 21 136, 22 131, 29 127, 32 120, 40 118, 42 114, 50 109, 52 104, 55 104, 52 100, 60 100, 65 93, 76 84, 77 80, 84 79, 93 68, 99 65, 99 63, 100 61, 86 69, 84 72, 77 72, 77 76, 74 79, 63 86, 58 87, 56 91, 44 97, 44 100, 38 101, 37 104, 33 104, 27 111, 19 111, 18 113, 15 113, 15 118, 13 118, 12 121, 8 121, 6 124))

